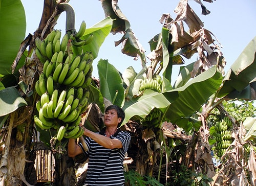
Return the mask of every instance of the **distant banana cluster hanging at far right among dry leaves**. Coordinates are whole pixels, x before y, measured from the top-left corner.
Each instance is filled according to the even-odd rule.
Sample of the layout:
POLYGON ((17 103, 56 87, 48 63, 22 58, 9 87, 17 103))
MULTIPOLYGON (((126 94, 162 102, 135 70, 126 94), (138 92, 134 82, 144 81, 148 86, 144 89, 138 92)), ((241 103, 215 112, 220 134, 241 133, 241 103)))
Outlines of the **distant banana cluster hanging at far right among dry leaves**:
POLYGON ((215 125, 215 139, 216 139, 216 146, 215 152, 218 157, 221 157, 226 149, 232 143, 232 135, 230 128, 232 126, 232 122, 229 120, 228 117, 224 117, 221 121, 216 122, 215 125))

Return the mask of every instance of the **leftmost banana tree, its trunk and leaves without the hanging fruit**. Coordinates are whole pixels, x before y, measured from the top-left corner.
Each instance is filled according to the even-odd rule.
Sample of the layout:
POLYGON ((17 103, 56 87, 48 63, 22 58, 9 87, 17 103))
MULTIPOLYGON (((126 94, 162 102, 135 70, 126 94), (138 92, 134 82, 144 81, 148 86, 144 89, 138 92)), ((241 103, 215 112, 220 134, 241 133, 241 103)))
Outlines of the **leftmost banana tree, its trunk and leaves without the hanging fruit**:
MULTIPOLYGON (((36 184, 36 175, 33 174, 34 166, 30 163, 26 164, 25 159, 34 162, 35 152, 38 149, 36 142, 43 141, 46 146, 50 146, 52 143, 51 137, 55 135, 54 132, 56 131, 44 131, 34 127, 33 115, 36 111, 36 100, 38 100, 34 86, 43 67, 39 56, 35 54, 35 40, 36 38, 40 40, 45 39, 54 30, 56 21, 63 11, 67 13, 67 31, 72 30, 76 33, 74 28, 75 15, 72 7, 65 3, 65 1, 60 3, 45 1, 44 13, 42 14, 38 29, 34 35, 29 34, 21 42, 24 39, 26 28, 25 12, 22 4, 19 1, 15 3, 5 2, 1 4, 2 9, 5 10, 1 11, 2 13, 6 13, 8 10, 12 13, 11 16, 8 13, 5 16, 1 16, 1 20, 3 20, 1 22, 3 27, 1 28, 7 28, 6 30, 1 29, 3 35, 7 36, 2 37, 2 39, 13 37, 14 42, 12 42, 12 39, 8 40, 8 42, 13 43, 13 46, 7 44, 10 48, 5 47, 1 50, 1 53, 10 54, 10 56, 6 55, 6 58, 1 58, 1 64, 3 65, 3 68, 1 68, 1 73, 3 74, 1 81, 1 89, 3 90, 0 92, 1 105, 5 105, 8 108, 1 107, 1 126, 3 127, 1 128, 1 134, 3 134, 1 135, 1 142, 5 144, 4 155, 1 160, 1 179, 5 179, 8 185, 22 184, 22 182, 36 184), (15 11, 17 13, 13 13, 15 11), (15 23, 18 19, 14 19, 14 23, 9 24, 10 18, 15 17, 13 15, 20 19, 19 24, 15 23), (17 26, 17 28, 13 28, 13 25, 17 26), (19 34, 13 34, 18 29, 20 29, 19 34), (27 51, 28 47, 29 50, 27 51), (11 71, 8 72, 10 66, 11 71), (19 118, 18 122, 15 121, 17 118, 19 118), (40 133, 40 140, 37 132, 40 133), (25 151, 28 153, 25 153, 25 151), (17 152, 19 152, 20 156, 14 155, 17 152), (13 164, 8 162, 13 162, 13 164)), ((84 46, 82 50, 89 51, 90 49, 93 57, 96 58, 101 44, 110 33, 112 21, 109 17, 104 18, 93 27, 81 33, 81 39, 86 39, 92 34, 94 36, 93 41, 84 46)), ((2 43, 7 43, 7 40, 3 40, 2 43)), ((74 51, 74 54, 78 52, 74 51)), ((3 54, 2 56, 5 55, 3 54)), ((58 185, 75 185, 74 162, 67 157, 67 154, 65 155, 65 144, 67 144, 67 140, 63 141, 62 144, 56 143, 55 147, 51 147, 51 150, 55 152, 55 182, 58 185), (59 145, 61 148, 58 148, 59 145), (62 154, 63 152, 64 155, 62 154)))

